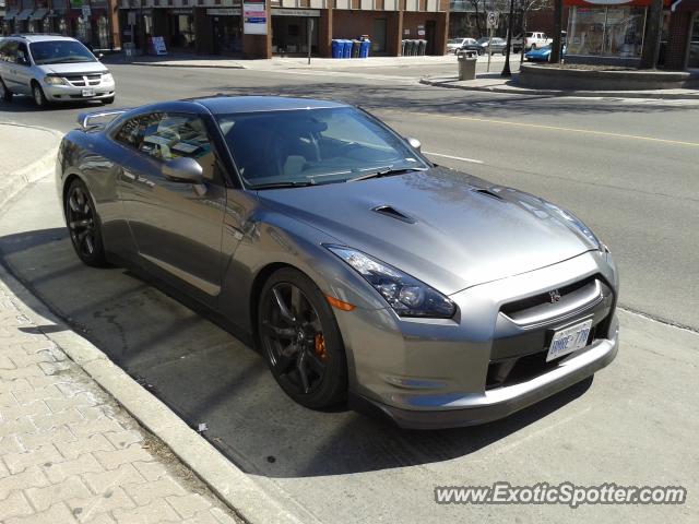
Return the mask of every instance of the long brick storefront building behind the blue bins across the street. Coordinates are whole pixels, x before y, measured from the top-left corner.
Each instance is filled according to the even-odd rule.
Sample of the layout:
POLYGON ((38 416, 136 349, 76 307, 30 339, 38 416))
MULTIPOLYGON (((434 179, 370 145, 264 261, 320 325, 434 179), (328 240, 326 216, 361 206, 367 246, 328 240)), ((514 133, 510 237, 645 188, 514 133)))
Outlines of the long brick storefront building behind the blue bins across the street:
POLYGON ((121 38, 167 49, 245 58, 331 56, 333 38, 371 39, 374 55, 398 56, 403 38, 443 55, 449 0, 120 0, 121 38))

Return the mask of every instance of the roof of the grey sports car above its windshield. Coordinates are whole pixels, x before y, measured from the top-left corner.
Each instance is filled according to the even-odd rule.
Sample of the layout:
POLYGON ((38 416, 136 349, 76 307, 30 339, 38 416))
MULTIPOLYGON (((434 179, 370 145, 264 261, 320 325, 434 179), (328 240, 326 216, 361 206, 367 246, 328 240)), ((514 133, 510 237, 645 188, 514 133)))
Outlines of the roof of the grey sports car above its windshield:
POLYGON ((286 96, 212 96, 206 98, 191 98, 188 102, 201 104, 213 115, 348 107, 347 104, 340 102, 292 98, 286 96))

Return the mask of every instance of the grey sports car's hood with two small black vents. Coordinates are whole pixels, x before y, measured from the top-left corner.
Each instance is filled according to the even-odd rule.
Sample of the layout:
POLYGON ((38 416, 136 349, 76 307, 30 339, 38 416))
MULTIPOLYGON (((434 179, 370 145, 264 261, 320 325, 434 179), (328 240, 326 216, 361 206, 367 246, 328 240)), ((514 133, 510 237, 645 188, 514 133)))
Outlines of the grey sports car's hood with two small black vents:
POLYGON ((553 204, 439 167, 258 194, 445 294, 597 249, 592 234, 553 204))

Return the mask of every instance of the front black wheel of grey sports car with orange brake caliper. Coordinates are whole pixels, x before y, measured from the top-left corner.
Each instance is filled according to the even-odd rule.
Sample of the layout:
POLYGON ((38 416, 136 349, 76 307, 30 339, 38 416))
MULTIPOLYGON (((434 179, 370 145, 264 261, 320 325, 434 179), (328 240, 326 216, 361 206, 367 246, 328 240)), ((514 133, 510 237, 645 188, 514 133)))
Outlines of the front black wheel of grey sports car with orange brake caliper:
POLYGON ((295 402, 324 409, 346 400, 342 335, 330 303, 308 276, 291 267, 272 274, 260 294, 257 329, 272 376, 295 402))

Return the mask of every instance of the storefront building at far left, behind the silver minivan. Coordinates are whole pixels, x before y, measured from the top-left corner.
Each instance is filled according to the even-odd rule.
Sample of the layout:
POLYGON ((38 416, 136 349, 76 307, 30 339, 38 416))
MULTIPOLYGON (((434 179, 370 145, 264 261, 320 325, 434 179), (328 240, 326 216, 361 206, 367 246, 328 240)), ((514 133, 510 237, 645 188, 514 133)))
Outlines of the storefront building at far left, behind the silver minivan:
POLYGON ((95 50, 120 47, 111 0, 7 0, 2 34, 56 33, 95 50))

